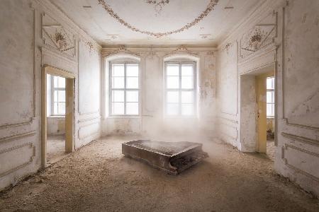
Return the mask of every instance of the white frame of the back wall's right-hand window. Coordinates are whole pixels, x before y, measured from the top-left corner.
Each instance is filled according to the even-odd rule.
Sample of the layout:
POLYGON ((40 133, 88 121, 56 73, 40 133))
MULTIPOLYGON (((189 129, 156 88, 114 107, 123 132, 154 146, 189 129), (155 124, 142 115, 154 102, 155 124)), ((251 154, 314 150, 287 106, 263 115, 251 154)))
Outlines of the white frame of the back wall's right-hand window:
POLYGON ((197 71, 196 71, 196 61, 165 61, 164 62, 164 115, 168 118, 193 118, 196 117, 197 113, 197 71), (167 66, 175 64, 179 65, 179 88, 167 88, 167 66), (193 65, 193 88, 181 88, 181 66, 182 65, 193 65), (179 114, 171 115, 167 114, 167 92, 168 91, 178 91, 179 92, 179 114), (193 114, 191 115, 184 115, 181 114, 181 92, 182 91, 193 91, 193 114))

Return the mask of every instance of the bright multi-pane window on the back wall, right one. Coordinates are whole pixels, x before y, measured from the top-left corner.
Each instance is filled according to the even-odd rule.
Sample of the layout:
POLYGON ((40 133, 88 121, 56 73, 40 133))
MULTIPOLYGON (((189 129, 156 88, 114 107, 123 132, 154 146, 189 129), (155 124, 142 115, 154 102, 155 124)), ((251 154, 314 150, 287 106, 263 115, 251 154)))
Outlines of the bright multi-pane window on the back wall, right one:
POLYGON ((196 111, 196 63, 165 63, 165 112, 193 116, 196 111))

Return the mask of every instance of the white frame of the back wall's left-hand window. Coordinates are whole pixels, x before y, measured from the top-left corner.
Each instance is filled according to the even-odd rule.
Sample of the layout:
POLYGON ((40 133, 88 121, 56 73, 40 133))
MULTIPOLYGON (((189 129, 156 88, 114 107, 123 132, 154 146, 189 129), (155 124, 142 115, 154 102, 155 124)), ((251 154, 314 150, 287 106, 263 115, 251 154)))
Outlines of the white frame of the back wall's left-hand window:
POLYGON ((115 61, 109 62, 108 67, 108 117, 140 117, 140 63, 137 61, 115 61), (112 65, 113 64, 124 64, 124 88, 112 88, 112 65), (127 64, 137 64, 138 65, 138 88, 126 88, 126 66, 127 64), (112 91, 113 90, 123 90, 124 92, 124 114, 113 114, 112 113, 112 91), (138 114, 126 114, 126 91, 138 91, 138 114))

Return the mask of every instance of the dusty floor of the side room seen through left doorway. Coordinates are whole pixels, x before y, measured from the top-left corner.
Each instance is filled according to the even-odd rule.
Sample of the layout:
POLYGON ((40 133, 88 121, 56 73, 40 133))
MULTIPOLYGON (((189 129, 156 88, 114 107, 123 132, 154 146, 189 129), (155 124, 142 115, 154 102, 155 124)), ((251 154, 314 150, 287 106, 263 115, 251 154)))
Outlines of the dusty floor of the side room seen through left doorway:
POLYGON ((65 135, 47 136, 47 165, 56 163, 65 155, 65 135))

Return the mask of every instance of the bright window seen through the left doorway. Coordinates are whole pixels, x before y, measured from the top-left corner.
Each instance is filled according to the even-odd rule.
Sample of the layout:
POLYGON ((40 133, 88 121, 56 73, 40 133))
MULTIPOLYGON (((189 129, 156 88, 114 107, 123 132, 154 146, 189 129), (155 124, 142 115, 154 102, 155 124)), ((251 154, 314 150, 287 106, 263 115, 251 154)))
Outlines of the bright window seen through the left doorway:
POLYGON ((52 76, 52 115, 65 115, 65 78, 52 76))

